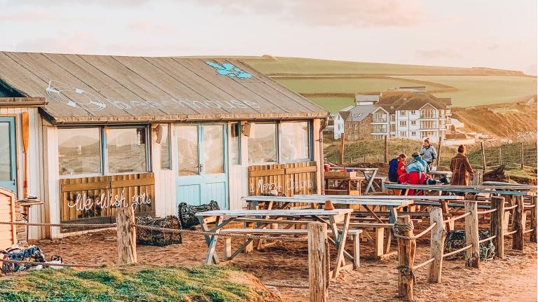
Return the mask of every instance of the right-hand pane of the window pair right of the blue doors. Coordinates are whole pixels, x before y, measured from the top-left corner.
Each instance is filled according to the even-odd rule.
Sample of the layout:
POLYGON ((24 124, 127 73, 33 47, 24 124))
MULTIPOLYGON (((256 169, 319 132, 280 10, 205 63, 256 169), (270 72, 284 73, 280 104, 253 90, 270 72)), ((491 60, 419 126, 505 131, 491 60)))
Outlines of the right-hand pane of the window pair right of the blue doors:
POLYGON ((310 158, 308 122, 281 123, 280 150, 283 161, 310 158))

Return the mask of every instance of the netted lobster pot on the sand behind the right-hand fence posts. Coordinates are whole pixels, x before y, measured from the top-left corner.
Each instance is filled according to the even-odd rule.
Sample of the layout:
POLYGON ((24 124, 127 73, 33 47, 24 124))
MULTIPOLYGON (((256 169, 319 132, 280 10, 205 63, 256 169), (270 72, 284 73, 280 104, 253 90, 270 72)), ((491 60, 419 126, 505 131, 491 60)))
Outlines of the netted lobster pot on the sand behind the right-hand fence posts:
MULTIPOLYGON (((490 237, 490 232, 478 231, 478 238, 480 238, 480 240, 488 237, 490 237)), ((461 249, 465 246, 465 230, 448 231, 445 239, 445 254, 453 252, 457 249, 461 249)), ((454 254, 449 256, 447 260, 461 259, 464 257, 464 254, 465 251, 454 254)), ((492 240, 482 242, 480 244, 480 260, 484 261, 487 259, 492 259, 493 256, 495 256, 495 245, 493 245, 492 240)))

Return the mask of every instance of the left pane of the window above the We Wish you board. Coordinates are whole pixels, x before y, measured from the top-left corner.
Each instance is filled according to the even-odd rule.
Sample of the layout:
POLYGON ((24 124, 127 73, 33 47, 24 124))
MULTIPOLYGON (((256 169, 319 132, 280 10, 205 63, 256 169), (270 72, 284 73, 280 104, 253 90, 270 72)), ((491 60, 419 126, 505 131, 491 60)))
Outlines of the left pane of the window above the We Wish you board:
POLYGON ((60 174, 101 173, 99 128, 58 129, 60 174))

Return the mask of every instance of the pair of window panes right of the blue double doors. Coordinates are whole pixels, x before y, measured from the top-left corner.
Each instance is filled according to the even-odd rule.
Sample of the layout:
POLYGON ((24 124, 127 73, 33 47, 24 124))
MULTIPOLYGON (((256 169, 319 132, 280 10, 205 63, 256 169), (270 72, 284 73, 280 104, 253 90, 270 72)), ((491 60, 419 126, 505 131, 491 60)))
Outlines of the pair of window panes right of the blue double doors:
POLYGON ((310 160, 310 123, 254 123, 249 134, 249 163, 310 160))

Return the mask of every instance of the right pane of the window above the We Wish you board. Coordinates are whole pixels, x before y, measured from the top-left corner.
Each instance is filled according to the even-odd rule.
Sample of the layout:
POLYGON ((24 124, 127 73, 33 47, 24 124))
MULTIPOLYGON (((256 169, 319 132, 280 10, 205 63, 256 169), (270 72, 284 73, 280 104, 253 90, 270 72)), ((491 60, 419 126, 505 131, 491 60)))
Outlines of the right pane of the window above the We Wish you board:
POLYGON ((147 170, 146 128, 109 128, 106 149, 110 173, 147 170))

